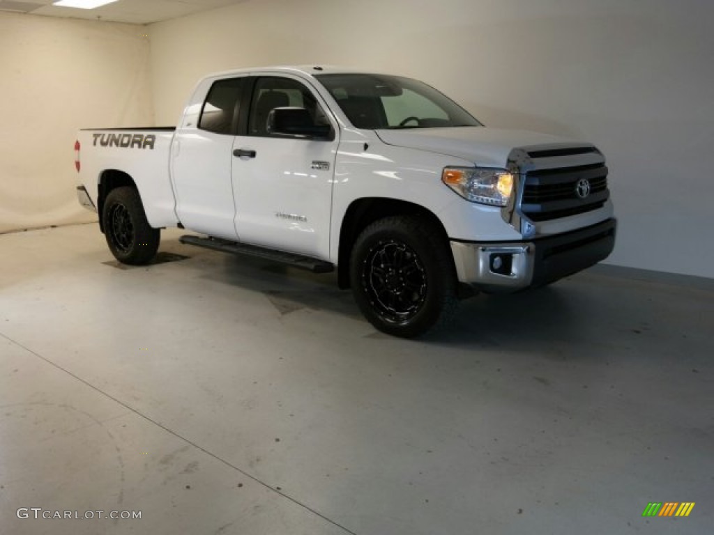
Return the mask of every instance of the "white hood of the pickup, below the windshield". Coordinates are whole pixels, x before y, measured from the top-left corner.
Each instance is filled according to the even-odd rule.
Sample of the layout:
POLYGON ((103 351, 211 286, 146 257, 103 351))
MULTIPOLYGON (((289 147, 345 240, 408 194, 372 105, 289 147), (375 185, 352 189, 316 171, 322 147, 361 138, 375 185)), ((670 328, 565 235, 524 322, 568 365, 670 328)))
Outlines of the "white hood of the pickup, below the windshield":
POLYGON ((508 154, 513 148, 568 142, 567 139, 544 133, 484 126, 378 130, 376 133, 388 145, 441 153, 473 162, 479 167, 497 168, 506 166, 508 154))

